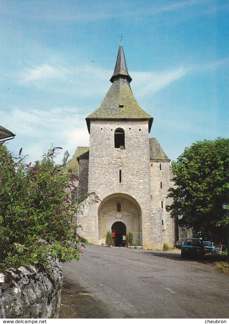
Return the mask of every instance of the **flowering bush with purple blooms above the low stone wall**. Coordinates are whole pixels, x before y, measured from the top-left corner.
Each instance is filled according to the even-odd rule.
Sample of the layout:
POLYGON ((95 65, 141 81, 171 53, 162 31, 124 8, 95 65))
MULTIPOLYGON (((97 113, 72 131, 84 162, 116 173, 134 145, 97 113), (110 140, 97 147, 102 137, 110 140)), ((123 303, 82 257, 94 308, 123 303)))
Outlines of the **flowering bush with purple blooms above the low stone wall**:
POLYGON ((28 263, 45 266, 48 254, 62 262, 79 260, 83 253, 74 226, 79 206, 71 200, 79 179, 66 163, 54 162, 58 149, 32 165, 21 150, 13 157, 0 143, 0 270, 28 263))

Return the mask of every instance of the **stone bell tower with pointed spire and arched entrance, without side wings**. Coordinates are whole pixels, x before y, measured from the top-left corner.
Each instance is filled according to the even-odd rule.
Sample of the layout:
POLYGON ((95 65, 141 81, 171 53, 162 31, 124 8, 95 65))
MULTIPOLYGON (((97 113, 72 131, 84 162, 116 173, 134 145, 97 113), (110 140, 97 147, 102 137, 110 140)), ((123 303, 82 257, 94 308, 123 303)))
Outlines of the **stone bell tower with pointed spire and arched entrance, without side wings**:
POLYGON ((100 233, 110 230, 115 233, 114 244, 121 246, 132 231, 142 237, 143 248, 150 248, 156 235, 149 148, 153 118, 139 107, 131 80, 120 43, 112 85, 100 107, 86 118, 88 192, 95 191, 103 203, 87 206, 79 223, 82 235, 92 243, 101 244, 100 233))

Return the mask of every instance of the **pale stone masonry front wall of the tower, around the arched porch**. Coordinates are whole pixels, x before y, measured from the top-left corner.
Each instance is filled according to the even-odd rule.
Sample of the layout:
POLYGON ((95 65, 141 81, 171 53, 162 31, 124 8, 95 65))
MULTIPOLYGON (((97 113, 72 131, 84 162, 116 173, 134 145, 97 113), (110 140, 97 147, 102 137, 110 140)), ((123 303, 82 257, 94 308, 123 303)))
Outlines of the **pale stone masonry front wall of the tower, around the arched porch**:
MULTIPOLYGON (((96 191, 102 200, 113 193, 128 194, 136 200, 141 207, 144 248, 150 247, 155 240, 151 228, 154 225, 151 220, 149 160, 147 120, 91 120, 88 191, 96 191), (114 147, 114 132, 118 127, 125 131, 124 150, 114 147)), ((98 229, 98 206, 89 208, 87 231, 92 237, 98 229)), ((98 244, 98 238, 94 243, 98 244)))

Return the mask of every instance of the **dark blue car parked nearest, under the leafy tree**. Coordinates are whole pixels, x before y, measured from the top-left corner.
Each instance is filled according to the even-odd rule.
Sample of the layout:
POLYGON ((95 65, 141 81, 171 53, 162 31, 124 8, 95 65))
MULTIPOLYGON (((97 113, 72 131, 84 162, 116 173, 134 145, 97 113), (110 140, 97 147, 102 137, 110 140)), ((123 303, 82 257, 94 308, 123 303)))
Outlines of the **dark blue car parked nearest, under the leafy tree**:
POLYGON ((184 245, 181 248, 181 257, 194 257, 203 259, 204 247, 200 238, 186 238, 184 245))

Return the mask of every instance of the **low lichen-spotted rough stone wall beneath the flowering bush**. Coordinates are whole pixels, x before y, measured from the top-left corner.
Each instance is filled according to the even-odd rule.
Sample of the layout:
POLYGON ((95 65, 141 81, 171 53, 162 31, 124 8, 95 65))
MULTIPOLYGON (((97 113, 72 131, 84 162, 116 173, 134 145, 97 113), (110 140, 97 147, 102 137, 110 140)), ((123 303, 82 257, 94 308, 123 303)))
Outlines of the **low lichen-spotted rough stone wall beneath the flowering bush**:
POLYGON ((62 268, 49 258, 48 268, 33 265, 0 272, 0 318, 58 318, 62 268))

